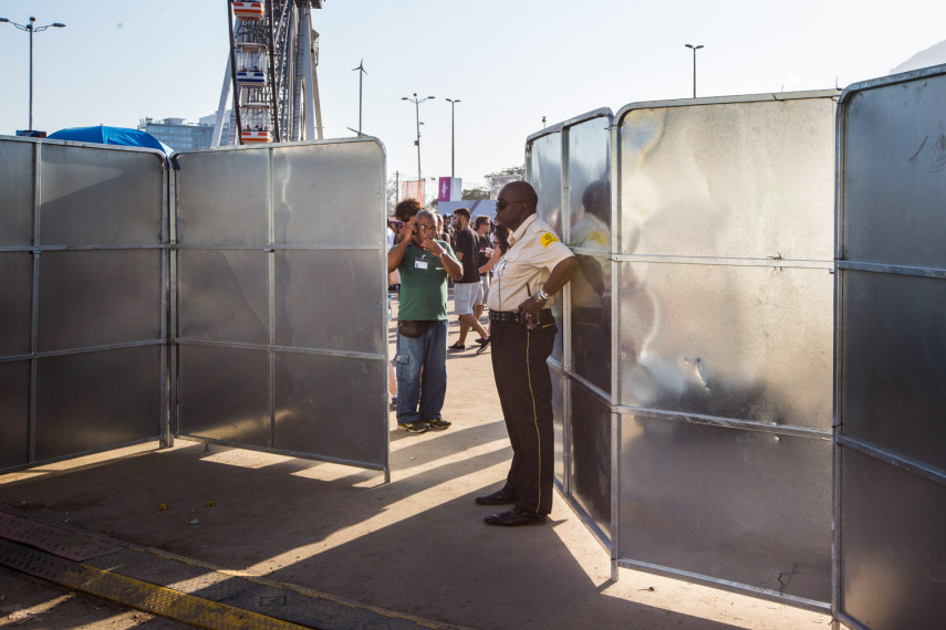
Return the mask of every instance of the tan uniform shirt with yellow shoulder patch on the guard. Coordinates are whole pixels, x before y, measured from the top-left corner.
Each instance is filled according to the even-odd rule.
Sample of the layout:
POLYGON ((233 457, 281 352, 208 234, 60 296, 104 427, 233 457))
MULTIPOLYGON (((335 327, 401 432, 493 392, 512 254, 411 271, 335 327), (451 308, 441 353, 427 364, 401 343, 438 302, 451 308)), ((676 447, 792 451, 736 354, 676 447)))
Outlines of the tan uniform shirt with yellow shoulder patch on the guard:
MULTIPOLYGON (((555 265, 572 255, 552 229, 532 214, 509 235, 509 250, 492 272, 486 305, 490 311, 517 311, 542 288, 555 265)), ((550 296, 542 307, 551 308, 555 300, 550 296)))

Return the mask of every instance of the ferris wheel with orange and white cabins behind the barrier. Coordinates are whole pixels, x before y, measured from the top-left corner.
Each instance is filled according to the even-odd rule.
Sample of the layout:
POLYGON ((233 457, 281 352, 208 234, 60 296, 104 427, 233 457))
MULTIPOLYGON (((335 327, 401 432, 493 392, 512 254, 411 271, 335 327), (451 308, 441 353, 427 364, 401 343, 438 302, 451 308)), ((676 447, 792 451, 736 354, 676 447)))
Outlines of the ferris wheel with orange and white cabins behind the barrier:
POLYGON ((230 55, 214 146, 230 94, 230 145, 322 139, 319 33, 311 18, 322 0, 230 0, 228 8, 230 55))

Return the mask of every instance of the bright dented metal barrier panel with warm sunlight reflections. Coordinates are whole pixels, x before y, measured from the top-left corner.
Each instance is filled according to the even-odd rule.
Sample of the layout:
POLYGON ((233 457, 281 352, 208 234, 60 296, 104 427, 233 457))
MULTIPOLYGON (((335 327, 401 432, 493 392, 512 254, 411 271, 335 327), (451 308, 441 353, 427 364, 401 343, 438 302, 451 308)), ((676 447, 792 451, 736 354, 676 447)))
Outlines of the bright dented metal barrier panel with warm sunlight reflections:
POLYGON ((827 607, 834 95, 615 117, 618 566, 827 607))

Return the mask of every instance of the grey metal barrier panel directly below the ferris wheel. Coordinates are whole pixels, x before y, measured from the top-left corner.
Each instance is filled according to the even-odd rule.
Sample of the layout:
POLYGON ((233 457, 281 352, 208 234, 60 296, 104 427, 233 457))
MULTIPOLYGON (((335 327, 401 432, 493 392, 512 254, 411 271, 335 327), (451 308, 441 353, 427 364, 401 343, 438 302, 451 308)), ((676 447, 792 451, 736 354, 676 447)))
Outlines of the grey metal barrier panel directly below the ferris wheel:
POLYGON ((380 143, 176 161, 179 433, 386 471, 380 143))

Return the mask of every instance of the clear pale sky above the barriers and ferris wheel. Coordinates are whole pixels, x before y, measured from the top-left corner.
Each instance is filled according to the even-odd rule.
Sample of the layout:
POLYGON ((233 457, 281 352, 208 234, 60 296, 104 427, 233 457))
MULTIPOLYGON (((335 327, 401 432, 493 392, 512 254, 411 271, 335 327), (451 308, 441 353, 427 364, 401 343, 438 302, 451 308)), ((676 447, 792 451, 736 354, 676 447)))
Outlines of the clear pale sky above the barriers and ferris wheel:
MULTIPOLYGON (((141 118, 197 122, 216 111, 228 55, 225 0, 2 0, 0 17, 37 25, 34 127, 141 118)), ((358 126, 386 148, 391 176, 456 168, 465 187, 521 165, 526 137, 599 107, 643 101, 844 87, 884 76, 946 39, 946 3, 900 0, 324 0, 313 11, 326 138, 358 126)), ((0 24, 0 134, 28 127, 29 35, 0 24)))

